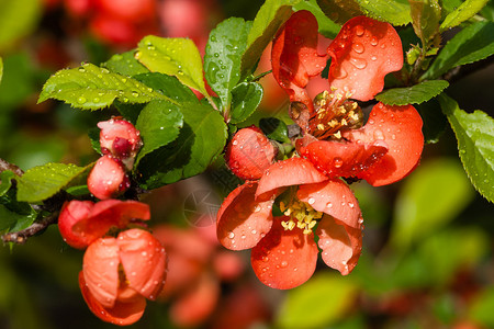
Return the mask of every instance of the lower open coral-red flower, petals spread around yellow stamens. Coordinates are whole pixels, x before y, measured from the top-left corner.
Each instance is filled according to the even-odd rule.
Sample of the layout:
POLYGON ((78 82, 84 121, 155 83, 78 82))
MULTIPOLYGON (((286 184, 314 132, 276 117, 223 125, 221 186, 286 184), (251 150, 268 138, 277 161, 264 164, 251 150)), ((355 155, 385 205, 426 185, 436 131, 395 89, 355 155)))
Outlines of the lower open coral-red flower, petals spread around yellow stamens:
POLYGON ((258 279, 284 290, 314 273, 314 228, 324 262, 344 275, 350 273, 360 256, 361 223, 357 200, 344 182, 328 179, 306 159, 292 158, 272 164, 259 182, 246 182, 226 197, 217 214, 217 237, 232 250, 251 248, 258 279), (284 216, 273 218, 277 196, 283 200, 284 216))

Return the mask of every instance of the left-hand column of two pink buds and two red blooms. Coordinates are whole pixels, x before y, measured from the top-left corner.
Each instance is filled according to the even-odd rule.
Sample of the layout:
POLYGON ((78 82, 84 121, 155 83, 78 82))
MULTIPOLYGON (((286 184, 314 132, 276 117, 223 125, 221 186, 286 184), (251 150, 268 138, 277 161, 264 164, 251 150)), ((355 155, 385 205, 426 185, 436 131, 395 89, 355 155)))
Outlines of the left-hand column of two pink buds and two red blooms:
MULTIPOLYGON (((91 311, 114 325, 137 321, 146 299, 155 300, 166 279, 165 247, 145 230, 149 206, 137 201, 109 198, 128 182, 141 147, 135 127, 123 120, 100 122, 103 157, 88 177, 88 188, 99 198, 66 202, 58 217, 64 240, 86 249, 79 286, 91 311)), ((125 185, 126 186, 126 185, 125 185)))

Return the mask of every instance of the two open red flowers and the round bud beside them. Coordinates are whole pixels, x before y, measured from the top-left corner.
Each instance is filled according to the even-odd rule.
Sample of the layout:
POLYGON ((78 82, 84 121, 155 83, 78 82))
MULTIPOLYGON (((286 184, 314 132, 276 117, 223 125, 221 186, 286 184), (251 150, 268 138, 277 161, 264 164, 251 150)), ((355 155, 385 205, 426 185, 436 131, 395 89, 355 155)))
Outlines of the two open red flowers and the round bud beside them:
POLYGON ((317 22, 308 11, 292 14, 273 41, 272 72, 302 131, 292 138, 293 154, 273 162, 266 156, 272 154, 269 143, 240 144, 237 136, 226 154, 233 172, 247 181, 223 202, 217 237, 228 249, 251 249, 256 275, 276 288, 308 280, 319 249, 328 266, 350 273, 361 252, 363 219, 347 182, 396 182, 418 164, 424 146, 413 106, 378 103, 364 124, 357 102, 372 100, 384 76, 403 65, 390 24, 358 16, 341 27, 327 54, 317 53, 317 22), (312 97, 310 80, 321 79, 329 57, 328 90, 312 97), (240 149, 248 152, 232 160, 240 149))

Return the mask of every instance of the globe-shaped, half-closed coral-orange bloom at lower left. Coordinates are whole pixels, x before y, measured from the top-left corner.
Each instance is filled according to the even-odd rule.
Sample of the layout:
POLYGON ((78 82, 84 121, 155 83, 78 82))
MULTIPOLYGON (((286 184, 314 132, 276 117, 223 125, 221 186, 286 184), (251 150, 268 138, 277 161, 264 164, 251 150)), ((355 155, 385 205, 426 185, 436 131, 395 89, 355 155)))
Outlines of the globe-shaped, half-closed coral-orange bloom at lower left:
POLYGON ((166 279, 166 251, 151 234, 128 229, 86 250, 79 286, 91 311, 121 326, 136 322, 166 279))

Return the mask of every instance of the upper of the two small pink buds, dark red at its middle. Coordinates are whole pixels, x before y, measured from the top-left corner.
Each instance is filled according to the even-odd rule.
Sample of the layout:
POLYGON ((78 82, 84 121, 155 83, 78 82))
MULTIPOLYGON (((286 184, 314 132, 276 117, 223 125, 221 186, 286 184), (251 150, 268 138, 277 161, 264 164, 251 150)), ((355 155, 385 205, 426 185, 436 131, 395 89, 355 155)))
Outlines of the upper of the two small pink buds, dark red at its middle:
POLYGON ((132 170, 134 158, 142 146, 139 131, 122 118, 111 118, 98 123, 100 145, 104 155, 122 160, 127 170, 132 170))

